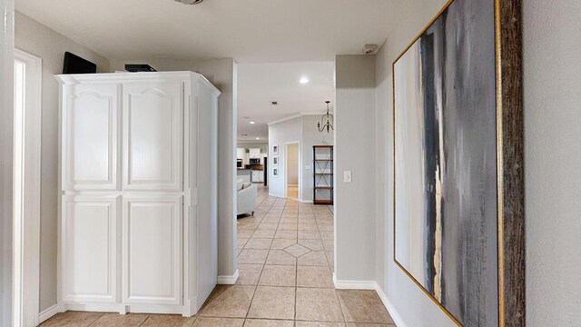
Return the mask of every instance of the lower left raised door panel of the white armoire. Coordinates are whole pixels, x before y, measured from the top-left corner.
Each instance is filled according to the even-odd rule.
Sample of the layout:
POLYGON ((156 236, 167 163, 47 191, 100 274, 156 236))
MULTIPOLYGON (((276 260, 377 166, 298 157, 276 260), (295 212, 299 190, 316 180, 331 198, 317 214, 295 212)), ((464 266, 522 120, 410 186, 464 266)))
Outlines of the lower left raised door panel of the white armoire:
POLYGON ((117 302, 117 198, 63 201, 63 300, 117 302))

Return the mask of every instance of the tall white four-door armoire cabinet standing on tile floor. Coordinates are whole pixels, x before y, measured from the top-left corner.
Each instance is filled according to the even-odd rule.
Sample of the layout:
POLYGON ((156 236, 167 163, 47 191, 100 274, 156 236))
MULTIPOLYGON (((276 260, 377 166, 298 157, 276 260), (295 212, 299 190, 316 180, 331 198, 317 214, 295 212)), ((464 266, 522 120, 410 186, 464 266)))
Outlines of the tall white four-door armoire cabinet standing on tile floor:
POLYGON ((220 91, 192 72, 56 78, 60 309, 192 316, 217 280, 220 91))

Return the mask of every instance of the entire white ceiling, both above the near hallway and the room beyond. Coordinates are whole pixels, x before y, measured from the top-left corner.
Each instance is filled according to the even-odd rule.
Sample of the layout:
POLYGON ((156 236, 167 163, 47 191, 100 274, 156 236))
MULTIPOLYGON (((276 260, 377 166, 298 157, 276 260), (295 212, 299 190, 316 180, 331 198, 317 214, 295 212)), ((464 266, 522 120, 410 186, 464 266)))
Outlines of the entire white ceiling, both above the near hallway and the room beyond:
POLYGON ((363 45, 383 44, 397 7, 405 3, 15 0, 16 10, 110 59, 234 58, 240 63, 241 140, 266 139, 271 121, 325 110, 324 101, 334 98, 335 55, 361 54, 363 45), (303 75, 309 84, 299 84, 303 75))

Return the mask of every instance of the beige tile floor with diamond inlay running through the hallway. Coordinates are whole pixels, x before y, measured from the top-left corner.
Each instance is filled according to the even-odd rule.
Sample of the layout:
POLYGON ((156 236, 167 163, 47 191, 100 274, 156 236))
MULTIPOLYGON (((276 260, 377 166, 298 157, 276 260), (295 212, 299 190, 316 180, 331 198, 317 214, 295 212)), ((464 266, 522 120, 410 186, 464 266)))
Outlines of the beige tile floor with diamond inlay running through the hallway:
POLYGON ((395 326, 376 292, 334 289, 329 207, 271 198, 263 187, 257 205, 238 219, 239 281, 218 285, 197 316, 64 312, 42 326, 395 326))

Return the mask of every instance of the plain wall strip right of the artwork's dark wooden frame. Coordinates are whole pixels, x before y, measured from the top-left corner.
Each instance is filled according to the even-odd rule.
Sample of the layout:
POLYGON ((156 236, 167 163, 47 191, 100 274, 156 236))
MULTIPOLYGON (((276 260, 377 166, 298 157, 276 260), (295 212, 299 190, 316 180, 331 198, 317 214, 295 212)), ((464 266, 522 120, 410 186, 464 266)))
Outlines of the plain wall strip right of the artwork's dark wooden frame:
POLYGON ((581 1, 523 1, 527 326, 581 323, 581 1))

